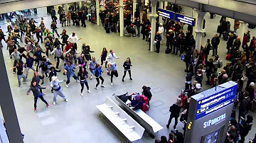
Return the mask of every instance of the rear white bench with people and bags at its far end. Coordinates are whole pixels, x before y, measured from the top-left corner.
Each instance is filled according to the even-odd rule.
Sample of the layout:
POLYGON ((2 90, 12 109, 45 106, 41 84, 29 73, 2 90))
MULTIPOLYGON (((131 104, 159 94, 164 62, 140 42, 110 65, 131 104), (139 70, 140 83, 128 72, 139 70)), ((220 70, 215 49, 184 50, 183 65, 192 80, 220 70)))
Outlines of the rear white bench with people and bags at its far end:
POLYGON ((132 107, 129 107, 127 103, 130 103, 131 101, 127 101, 127 103, 124 103, 120 100, 117 96, 114 96, 116 100, 127 110, 127 112, 131 113, 134 116, 134 120, 137 120, 142 127, 145 128, 147 132, 149 132, 149 135, 151 135, 152 138, 154 138, 154 132, 159 132, 159 130, 162 130, 163 127, 159 125, 155 120, 149 117, 149 115, 146 115, 142 110, 132 110, 132 107))

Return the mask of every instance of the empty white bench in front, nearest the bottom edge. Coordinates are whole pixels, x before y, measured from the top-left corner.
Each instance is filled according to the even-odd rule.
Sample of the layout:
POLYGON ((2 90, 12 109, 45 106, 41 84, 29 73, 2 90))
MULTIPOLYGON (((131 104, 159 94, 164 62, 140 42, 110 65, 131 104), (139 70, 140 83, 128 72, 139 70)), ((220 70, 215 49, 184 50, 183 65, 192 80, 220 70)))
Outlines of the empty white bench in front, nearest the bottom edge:
POLYGON ((104 104, 96 107, 130 142, 142 138, 145 129, 109 97, 104 104))

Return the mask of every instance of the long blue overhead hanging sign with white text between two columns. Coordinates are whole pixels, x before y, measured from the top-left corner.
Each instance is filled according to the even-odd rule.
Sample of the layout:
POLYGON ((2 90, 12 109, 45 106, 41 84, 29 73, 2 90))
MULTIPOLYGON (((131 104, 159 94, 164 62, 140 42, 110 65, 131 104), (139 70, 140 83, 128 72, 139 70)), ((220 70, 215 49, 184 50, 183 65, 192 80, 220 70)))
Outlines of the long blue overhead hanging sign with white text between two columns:
POLYGON ((157 14, 159 16, 163 16, 165 18, 170 18, 175 21, 186 23, 188 25, 195 26, 196 25, 196 18, 192 18, 190 16, 185 16, 180 13, 174 13, 173 11, 168 11, 162 8, 157 8, 157 14))

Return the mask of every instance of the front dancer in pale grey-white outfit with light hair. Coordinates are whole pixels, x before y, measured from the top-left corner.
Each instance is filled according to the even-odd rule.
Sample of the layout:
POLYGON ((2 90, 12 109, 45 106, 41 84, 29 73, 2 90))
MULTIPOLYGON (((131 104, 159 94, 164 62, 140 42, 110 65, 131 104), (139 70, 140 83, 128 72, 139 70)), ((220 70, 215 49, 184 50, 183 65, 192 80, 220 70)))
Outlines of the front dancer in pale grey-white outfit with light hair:
POLYGON ((50 81, 50 87, 53 88, 53 105, 56 105, 56 97, 59 95, 62 97, 66 102, 68 102, 68 98, 63 93, 63 89, 60 86, 60 83, 64 81, 60 81, 57 79, 57 76, 53 76, 50 81))

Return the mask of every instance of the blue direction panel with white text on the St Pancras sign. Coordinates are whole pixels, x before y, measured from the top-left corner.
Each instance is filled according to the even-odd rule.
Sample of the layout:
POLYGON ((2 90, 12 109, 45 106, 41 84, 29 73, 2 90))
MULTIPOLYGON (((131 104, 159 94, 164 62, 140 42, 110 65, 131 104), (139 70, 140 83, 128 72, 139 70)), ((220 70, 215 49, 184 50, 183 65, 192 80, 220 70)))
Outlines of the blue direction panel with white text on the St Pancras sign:
MULTIPOLYGON (((206 96, 206 98, 202 98, 201 100, 199 100, 196 106, 195 120, 203 118, 210 113, 213 113, 221 108, 224 108, 234 103, 236 91, 237 86, 232 86, 230 88, 226 88, 223 91, 214 93, 211 96, 206 96)), ((208 94, 206 92, 207 91, 203 93, 208 94)))

